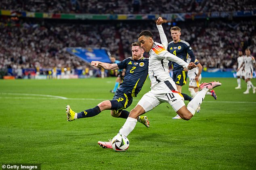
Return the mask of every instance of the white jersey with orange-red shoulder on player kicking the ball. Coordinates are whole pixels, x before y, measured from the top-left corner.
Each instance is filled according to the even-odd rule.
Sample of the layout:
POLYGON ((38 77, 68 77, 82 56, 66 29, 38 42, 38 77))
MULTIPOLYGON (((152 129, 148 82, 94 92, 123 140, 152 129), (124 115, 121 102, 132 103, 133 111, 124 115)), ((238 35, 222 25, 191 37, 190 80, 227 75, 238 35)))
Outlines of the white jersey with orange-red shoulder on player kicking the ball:
POLYGON ((180 59, 179 57, 169 53, 164 48, 164 45, 154 42, 152 49, 149 51, 149 78, 151 80, 152 90, 154 89, 159 91, 163 89, 161 87, 162 83, 160 82, 164 82, 170 79, 172 80, 168 72, 168 60, 174 61, 185 68, 188 66, 188 63, 183 61, 183 59, 180 59))

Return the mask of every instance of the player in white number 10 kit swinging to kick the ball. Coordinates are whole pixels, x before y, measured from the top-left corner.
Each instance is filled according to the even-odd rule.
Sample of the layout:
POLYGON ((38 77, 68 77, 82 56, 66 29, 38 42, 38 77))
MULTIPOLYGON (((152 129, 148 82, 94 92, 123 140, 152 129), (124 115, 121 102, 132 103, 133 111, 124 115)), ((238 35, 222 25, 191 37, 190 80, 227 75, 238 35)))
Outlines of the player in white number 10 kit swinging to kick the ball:
POLYGON ((201 90, 189 102, 187 107, 183 96, 178 92, 175 82, 168 73, 168 60, 174 61, 189 70, 195 68, 195 63, 186 63, 179 57, 169 53, 166 48, 168 41, 162 27, 163 19, 157 20, 157 29, 163 44, 153 41, 150 31, 142 31, 138 35, 138 41, 144 51, 149 52, 149 78, 151 80, 151 90, 143 95, 136 107, 130 111, 119 134, 128 136, 137 123, 137 117, 145 112, 151 111, 161 103, 169 103, 174 111, 184 120, 189 120, 195 115, 196 109, 200 106, 206 93, 213 88, 220 86, 220 82, 203 83, 199 87, 201 90))

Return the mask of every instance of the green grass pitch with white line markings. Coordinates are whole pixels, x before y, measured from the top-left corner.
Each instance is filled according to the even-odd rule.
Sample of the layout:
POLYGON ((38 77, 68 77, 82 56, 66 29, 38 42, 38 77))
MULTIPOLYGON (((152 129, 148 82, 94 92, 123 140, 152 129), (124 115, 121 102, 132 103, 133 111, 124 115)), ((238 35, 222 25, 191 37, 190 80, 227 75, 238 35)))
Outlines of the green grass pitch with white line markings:
MULTIPOLYGON (((66 120, 67 104, 80 112, 111 99, 115 78, 0 80, 0 163, 38 163, 45 170, 256 169, 256 94, 243 94, 244 81, 235 90, 235 78, 202 81, 212 80, 222 82, 217 100, 206 96, 189 121, 173 120, 173 109, 159 105, 145 114, 150 128, 137 123, 126 152, 97 144, 115 136, 125 119, 103 111, 66 120)), ((149 87, 147 80, 128 111, 149 87)), ((189 94, 187 85, 183 92, 189 94)))

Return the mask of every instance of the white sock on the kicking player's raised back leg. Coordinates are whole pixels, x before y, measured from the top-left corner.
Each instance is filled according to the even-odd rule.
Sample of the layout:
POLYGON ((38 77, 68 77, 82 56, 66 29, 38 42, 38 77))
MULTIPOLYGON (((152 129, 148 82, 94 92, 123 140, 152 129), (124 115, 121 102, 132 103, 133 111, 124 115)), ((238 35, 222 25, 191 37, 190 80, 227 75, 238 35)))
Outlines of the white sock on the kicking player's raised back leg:
POLYGON ((189 102, 187 105, 187 109, 190 111, 192 115, 195 115, 195 111, 197 108, 202 104, 204 97, 206 96, 206 93, 208 92, 207 88, 203 88, 201 91, 199 91, 195 97, 189 102))

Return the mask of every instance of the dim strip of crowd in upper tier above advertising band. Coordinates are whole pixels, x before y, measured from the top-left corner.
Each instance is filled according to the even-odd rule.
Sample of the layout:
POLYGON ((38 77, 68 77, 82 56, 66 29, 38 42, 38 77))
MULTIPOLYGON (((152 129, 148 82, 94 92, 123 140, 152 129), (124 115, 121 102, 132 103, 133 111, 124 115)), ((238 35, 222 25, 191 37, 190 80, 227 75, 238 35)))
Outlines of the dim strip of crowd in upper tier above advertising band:
POLYGON ((255 10, 256 4, 251 0, 1 0, 0 7, 20 12, 158 14, 255 10))

